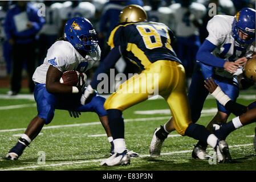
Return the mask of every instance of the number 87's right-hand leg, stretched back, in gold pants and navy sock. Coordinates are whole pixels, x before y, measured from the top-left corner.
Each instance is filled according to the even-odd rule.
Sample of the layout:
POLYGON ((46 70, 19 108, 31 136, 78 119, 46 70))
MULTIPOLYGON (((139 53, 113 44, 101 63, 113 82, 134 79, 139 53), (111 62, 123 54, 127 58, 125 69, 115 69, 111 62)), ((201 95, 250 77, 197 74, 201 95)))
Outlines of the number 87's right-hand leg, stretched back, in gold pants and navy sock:
MULTIPOLYGON (((169 96, 165 96, 165 100, 168 102, 170 110, 173 115, 173 124, 176 131, 181 135, 186 135, 194 139, 200 140, 201 142, 208 143, 215 150, 218 150, 218 159, 222 162, 225 159, 230 159, 228 146, 225 141, 220 141, 218 138, 211 134, 202 125, 192 123, 190 116, 190 107, 188 104, 188 98, 185 90, 185 72, 184 68, 176 67, 170 68, 172 73, 175 73, 175 80, 171 82, 170 90, 172 92, 169 96)), ((172 78, 170 78, 172 80, 172 78)), ((155 151, 153 151, 155 152, 155 151)), ((157 154, 153 153, 153 156, 157 154)), ((152 155, 151 155, 152 156, 152 155)))

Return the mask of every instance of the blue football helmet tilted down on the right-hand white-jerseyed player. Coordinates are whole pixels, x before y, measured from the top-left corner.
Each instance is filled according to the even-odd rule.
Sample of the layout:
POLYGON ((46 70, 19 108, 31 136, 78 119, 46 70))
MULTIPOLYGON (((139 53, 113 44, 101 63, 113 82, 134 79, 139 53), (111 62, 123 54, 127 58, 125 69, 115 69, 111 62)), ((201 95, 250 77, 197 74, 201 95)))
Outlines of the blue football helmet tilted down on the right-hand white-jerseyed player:
POLYGON ((235 41, 242 46, 247 46, 255 40, 255 10, 245 7, 239 11, 232 24, 232 33, 235 41), (249 39, 243 40, 239 37, 239 31, 243 34, 249 35, 249 39))

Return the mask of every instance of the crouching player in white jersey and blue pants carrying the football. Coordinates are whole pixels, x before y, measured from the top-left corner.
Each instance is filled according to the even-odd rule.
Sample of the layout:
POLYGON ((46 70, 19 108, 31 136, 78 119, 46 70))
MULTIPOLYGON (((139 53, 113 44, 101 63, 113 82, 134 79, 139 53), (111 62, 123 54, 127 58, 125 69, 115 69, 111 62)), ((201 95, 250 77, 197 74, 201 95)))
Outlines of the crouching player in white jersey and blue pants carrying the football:
POLYGON ((105 98, 94 93, 85 105, 81 105, 83 84, 70 86, 60 83, 63 72, 76 70, 82 74, 100 60, 94 27, 88 19, 76 17, 67 21, 64 32, 64 40, 52 44, 44 63, 34 72, 32 79, 35 82, 34 97, 38 114, 6 155, 6 159, 16 160, 22 155, 44 124, 48 125, 52 121, 55 109, 71 111, 71 117, 79 117, 80 112, 97 113, 109 142, 112 142, 107 111, 103 107, 105 98))

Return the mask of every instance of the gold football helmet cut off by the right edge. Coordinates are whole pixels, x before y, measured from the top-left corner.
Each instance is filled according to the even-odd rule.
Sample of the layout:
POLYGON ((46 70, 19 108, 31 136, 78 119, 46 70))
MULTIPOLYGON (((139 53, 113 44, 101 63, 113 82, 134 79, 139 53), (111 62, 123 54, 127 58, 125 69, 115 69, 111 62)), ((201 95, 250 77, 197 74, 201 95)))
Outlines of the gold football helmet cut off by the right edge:
POLYGON ((243 68, 243 75, 245 75, 249 80, 256 82, 256 59, 251 58, 245 64, 243 68))

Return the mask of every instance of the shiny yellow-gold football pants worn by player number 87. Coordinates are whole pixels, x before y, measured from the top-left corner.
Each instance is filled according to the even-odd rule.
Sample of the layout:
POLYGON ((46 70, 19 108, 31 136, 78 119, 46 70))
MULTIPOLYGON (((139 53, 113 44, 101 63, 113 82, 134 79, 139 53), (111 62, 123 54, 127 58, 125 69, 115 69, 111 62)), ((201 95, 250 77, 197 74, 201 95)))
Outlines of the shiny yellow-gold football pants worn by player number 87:
MULTIPOLYGON (((170 107, 176 131, 184 135, 192 123, 186 95, 185 69, 176 61, 159 60, 148 65, 143 72, 123 82, 105 101, 104 107, 121 111, 143 102, 158 90, 170 107)), ((157 93, 155 93, 157 94, 157 93)))

